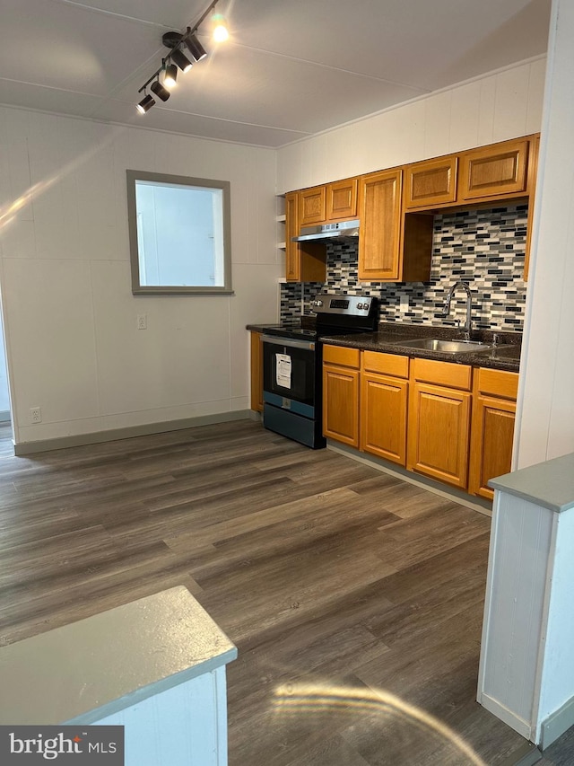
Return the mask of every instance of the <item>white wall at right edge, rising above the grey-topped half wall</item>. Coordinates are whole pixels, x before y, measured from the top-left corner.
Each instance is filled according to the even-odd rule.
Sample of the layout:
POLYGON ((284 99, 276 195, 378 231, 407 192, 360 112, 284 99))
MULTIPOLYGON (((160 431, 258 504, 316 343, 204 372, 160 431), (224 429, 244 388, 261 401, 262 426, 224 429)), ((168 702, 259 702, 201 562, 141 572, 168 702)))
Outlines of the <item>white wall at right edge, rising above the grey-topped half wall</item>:
POLYGON ((574 452, 574 4, 554 0, 514 463, 574 452))

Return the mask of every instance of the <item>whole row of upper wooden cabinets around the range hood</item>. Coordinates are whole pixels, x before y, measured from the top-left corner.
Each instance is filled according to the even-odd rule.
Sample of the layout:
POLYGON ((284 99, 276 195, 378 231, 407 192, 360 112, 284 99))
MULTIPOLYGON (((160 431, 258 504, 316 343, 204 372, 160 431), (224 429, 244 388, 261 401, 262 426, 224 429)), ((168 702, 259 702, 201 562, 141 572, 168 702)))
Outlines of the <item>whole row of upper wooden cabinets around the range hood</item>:
MULTIPOLYGON (((291 192, 285 198, 287 280, 326 279, 325 243, 291 243, 301 227, 359 217, 362 282, 429 281, 432 216, 449 207, 532 202, 537 140, 526 136, 291 192)), ((528 220, 525 278, 532 216, 528 220)))

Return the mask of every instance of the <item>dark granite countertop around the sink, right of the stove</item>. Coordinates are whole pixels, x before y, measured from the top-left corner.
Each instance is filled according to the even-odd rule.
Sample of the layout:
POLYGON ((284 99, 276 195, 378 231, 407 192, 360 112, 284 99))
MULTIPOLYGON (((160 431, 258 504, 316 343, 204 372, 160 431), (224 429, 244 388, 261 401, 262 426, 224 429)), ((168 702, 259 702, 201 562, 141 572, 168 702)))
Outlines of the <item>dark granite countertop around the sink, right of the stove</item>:
MULTIPOLYGON (((473 340, 491 343, 493 335, 494 333, 491 330, 475 330, 473 332, 473 340)), ((382 322, 378 326, 378 332, 327 336, 321 338, 321 340, 334 346, 384 351, 388 354, 401 354, 405 357, 438 359, 442 362, 454 362, 458 365, 491 367, 497 370, 517 373, 520 365, 522 335, 518 332, 498 332, 497 335, 499 336, 498 347, 463 354, 431 351, 424 348, 409 348, 408 346, 401 345, 401 340, 407 339, 437 338, 452 340, 462 338, 461 330, 458 328, 434 325, 382 322)))

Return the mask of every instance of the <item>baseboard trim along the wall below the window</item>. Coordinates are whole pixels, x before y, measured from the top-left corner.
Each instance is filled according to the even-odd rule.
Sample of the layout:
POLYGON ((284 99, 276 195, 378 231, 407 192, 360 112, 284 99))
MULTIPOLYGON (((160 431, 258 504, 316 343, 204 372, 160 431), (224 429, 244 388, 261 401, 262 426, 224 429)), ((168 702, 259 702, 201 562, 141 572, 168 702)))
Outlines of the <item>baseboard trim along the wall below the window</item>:
POLYGON ((250 417, 249 412, 249 409, 238 409, 232 412, 218 412, 214 415, 200 415, 197 418, 180 418, 179 420, 167 420, 161 423, 145 423, 141 426, 111 428, 108 431, 96 431, 91 434, 57 436, 54 439, 39 439, 37 442, 22 442, 21 444, 14 445, 14 454, 22 457, 28 454, 62 450, 67 447, 99 445, 102 442, 116 442, 119 439, 132 439, 135 436, 151 436, 152 434, 163 434, 167 431, 181 431, 184 428, 212 426, 215 423, 227 423, 232 420, 247 420, 250 417))

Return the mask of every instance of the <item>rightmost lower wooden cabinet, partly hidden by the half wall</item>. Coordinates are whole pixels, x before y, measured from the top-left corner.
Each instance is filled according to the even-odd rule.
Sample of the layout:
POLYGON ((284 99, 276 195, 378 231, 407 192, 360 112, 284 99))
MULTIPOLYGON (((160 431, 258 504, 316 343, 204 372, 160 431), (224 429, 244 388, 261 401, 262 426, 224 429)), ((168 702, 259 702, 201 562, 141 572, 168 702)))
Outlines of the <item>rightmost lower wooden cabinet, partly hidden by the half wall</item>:
POLYGON ((481 368, 474 374, 468 491, 492 499, 488 480, 510 471, 518 374, 481 368))

